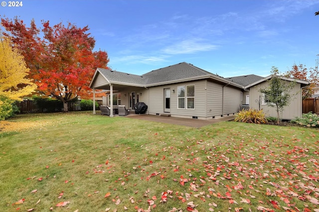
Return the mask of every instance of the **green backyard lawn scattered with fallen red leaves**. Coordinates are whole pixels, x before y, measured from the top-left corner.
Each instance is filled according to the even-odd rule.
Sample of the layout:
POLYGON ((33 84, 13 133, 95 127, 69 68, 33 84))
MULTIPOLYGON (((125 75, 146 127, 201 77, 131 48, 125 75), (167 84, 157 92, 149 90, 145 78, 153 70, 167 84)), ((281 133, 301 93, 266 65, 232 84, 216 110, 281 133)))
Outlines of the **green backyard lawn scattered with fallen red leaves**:
POLYGON ((8 121, 31 128, 0 131, 1 212, 319 212, 318 128, 91 112, 8 121))

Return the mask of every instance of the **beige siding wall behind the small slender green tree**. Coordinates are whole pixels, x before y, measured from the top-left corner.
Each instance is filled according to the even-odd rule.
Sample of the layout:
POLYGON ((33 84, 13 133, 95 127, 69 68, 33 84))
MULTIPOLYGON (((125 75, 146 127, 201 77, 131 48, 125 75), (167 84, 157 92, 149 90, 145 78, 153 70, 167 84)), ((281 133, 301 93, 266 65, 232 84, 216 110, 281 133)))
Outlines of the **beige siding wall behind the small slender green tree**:
MULTIPOLYGON (((258 86, 252 87, 250 89, 250 106, 252 108, 258 109, 258 100, 259 96, 262 94, 258 92, 259 89, 267 87, 268 82, 261 83, 258 86), (257 103, 256 103, 256 102, 257 103)), ((301 85, 299 83, 296 84, 295 88, 292 90, 292 94, 294 97, 292 98, 290 105, 284 107, 284 111, 282 114, 283 119, 294 119, 296 117, 300 117, 302 115, 302 96, 301 96, 301 85)), ((276 107, 270 107, 267 105, 263 105, 262 101, 260 103, 260 108, 264 110, 267 116, 277 117, 276 107)))

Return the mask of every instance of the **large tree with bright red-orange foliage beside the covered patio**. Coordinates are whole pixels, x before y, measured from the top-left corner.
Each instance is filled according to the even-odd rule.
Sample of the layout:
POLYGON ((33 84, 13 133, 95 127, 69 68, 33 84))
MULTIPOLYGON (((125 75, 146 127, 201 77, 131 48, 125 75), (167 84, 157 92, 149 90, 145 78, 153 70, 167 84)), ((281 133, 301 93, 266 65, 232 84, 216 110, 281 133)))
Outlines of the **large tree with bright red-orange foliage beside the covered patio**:
POLYGON ((50 26, 42 21, 43 38, 31 21, 26 27, 22 20, 1 19, 14 45, 21 49, 30 75, 38 85, 38 92, 63 102, 68 111, 68 102, 90 95, 89 83, 97 67, 107 68, 109 62, 105 51, 93 51, 95 40, 88 26, 83 28, 62 22, 50 26))

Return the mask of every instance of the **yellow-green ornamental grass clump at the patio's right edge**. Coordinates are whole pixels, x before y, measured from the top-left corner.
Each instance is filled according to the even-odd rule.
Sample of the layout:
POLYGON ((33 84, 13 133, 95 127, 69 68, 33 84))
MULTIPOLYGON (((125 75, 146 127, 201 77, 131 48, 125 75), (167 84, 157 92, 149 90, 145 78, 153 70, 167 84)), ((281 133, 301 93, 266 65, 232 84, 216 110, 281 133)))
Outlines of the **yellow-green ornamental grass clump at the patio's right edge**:
POLYGON ((235 114, 235 121, 245 123, 268 123, 263 110, 250 108, 249 110, 241 110, 235 114))

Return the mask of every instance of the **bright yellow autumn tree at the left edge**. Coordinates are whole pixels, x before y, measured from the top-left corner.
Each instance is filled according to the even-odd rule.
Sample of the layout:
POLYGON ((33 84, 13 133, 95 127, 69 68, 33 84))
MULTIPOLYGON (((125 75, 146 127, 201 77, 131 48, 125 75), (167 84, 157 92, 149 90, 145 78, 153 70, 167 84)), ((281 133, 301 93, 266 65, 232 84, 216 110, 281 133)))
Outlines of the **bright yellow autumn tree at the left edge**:
POLYGON ((37 86, 27 78, 28 74, 29 69, 19 50, 9 39, 0 37, 0 96, 21 101, 32 94, 37 86))

